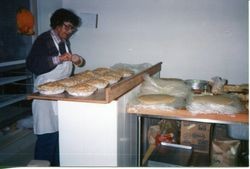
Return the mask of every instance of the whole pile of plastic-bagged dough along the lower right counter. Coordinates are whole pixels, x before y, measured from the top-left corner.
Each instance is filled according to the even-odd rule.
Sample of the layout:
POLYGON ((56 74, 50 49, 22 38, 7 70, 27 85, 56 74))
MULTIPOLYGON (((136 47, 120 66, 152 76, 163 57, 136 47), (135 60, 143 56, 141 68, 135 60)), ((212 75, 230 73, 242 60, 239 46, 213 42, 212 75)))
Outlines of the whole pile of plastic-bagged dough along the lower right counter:
POLYGON ((144 76, 134 108, 187 109, 193 114, 235 114, 248 109, 248 84, 212 83, 211 91, 196 94, 182 79, 144 76))

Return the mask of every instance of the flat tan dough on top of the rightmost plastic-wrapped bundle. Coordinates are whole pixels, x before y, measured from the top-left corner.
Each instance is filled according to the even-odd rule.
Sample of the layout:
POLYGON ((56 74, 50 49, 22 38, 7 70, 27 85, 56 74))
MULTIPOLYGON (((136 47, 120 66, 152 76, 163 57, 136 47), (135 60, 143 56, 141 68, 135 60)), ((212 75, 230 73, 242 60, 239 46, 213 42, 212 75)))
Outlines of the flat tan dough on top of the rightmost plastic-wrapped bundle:
POLYGON ((230 105, 231 103, 233 103, 233 100, 225 96, 207 95, 207 96, 194 96, 192 103, 230 105))

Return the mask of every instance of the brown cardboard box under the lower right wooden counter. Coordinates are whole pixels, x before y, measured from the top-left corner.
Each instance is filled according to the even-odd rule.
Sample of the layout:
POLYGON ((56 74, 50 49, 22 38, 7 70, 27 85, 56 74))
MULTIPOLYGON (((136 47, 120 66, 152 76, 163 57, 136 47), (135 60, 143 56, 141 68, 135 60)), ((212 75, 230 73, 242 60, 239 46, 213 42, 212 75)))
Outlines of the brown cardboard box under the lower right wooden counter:
POLYGON ((211 124, 182 121, 180 144, 192 146, 194 152, 209 153, 211 124))

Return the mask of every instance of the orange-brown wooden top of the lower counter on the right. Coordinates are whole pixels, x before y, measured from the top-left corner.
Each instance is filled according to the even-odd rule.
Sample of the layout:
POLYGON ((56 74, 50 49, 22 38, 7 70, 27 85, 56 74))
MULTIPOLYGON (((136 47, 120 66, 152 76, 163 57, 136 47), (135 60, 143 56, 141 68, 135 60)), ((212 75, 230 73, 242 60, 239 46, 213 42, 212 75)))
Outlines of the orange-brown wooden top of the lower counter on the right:
POLYGON ((150 109, 150 108, 135 108, 133 106, 127 107, 127 112, 130 114, 136 114, 138 116, 159 117, 175 120, 188 120, 205 123, 248 123, 248 112, 241 112, 234 115, 227 114, 192 114, 187 110, 174 110, 167 111, 162 109, 150 109))

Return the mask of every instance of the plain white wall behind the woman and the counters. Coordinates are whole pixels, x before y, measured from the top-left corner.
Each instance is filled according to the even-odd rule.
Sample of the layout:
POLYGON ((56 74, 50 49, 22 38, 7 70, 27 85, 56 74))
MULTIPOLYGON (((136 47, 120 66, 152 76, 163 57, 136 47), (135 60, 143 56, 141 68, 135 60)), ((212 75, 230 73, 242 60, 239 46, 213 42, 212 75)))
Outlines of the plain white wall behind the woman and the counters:
POLYGON ((84 69, 162 61, 161 77, 248 83, 248 0, 62 2, 99 15, 97 29, 81 27, 71 39, 84 69))

